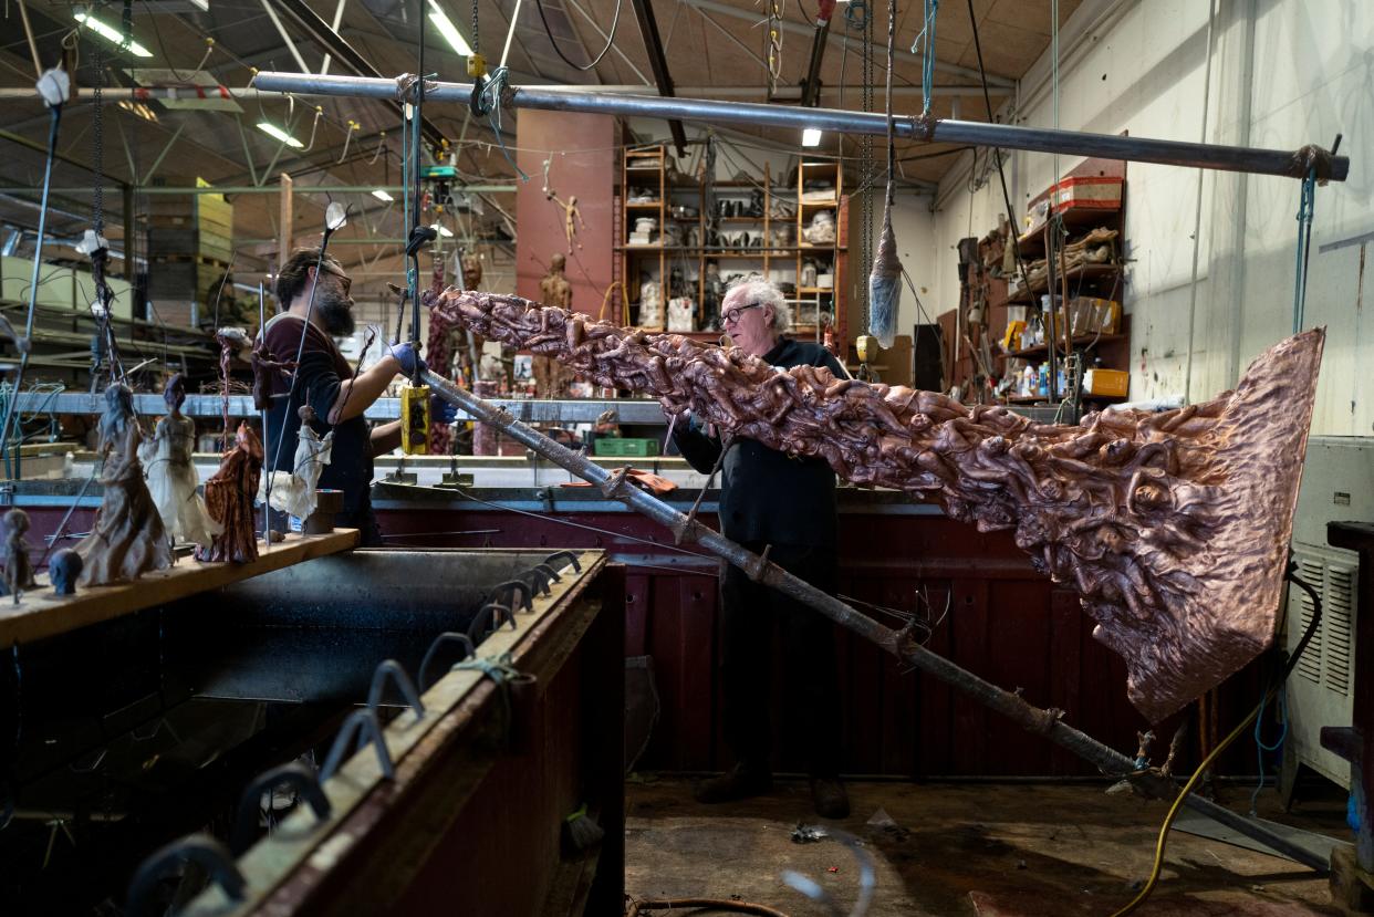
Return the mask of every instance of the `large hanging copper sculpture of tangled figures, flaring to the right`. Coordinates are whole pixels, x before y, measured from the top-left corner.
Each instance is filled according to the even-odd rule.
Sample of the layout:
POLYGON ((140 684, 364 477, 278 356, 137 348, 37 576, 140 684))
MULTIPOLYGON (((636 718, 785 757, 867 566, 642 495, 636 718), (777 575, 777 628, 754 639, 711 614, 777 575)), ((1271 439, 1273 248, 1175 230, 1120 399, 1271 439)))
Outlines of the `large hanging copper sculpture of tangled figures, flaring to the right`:
POLYGON ((669 414, 690 410, 731 434, 819 455, 846 481, 934 499, 980 531, 1015 529, 1037 569, 1079 590, 1150 720, 1274 637, 1320 329, 1267 351, 1212 401, 1058 426, 809 366, 779 371, 514 296, 451 289, 426 300, 598 385, 646 392, 669 414))

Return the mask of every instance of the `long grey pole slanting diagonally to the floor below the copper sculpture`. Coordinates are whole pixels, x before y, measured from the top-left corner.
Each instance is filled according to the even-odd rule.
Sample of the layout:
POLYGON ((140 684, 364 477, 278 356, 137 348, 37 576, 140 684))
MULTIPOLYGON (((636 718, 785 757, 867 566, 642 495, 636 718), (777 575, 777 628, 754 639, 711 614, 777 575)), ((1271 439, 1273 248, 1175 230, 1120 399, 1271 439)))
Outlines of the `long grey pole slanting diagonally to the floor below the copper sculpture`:
MULTIPOLYGON (((543 455, 584 481, 595 484, 606 496, 622 502, 655 522, 661 522, 672 532, 682 533, 684 540, 697 542, 712 554, 724 558, 758 582, 809 605, 841 627, 877 643, 897 659, 938 678, 947 685, 971 694, 981 704, 1007 716, 1022 729, 1044 736, 1055 745, 1096 766, 1102 773, 1120 777, 1131 775, 1131 780, 1136 781, 1139 786, 1149 789, 1161 799, 1168 799, 1178 793, 1179 788, 1168 777, 1149 771, 1138 774, 1132 759, 1065 723, 1061 719, 1062 711, 1046 711, 1035 707, 1026 703, 1020 694, 1003 690, 992 682, 978 678, 973 672, 955 665, 944 656, 932 653, 914 639, 905 639, 904 634, 883 627, 871 617, 859 613, 848 604, 833 595, 827 595, 811 583, 793 576, 768 561, 767 553, 760 557, 697 520, 688 520, 672 506, 631 484, 625 476, 617 477, 606 472, 606 469, 588 461, 585 455, 552 441, 537 430, 521 423, 507 411, 502 411, 495 404, 453 385, 442 375, 426 370, 425 384, 445 401, 459 407, 474 419, 500 428, 502 432, 523 443, 537 455, 543 455)), ((1213 818, 1246 837, 1260 841, 1271 850, 1290 857, 1304 866, 1309 866, 1318 872, 1326 872, 1327 869, 1325 859, 1315 857, 1286 837, 1265 829, 1263 825, 1257 825, 1228 808, 1217 806, 1209 799, 1204 799, 1197 793, 1189 793, 1183 802, 1190 808, 1213 818)))

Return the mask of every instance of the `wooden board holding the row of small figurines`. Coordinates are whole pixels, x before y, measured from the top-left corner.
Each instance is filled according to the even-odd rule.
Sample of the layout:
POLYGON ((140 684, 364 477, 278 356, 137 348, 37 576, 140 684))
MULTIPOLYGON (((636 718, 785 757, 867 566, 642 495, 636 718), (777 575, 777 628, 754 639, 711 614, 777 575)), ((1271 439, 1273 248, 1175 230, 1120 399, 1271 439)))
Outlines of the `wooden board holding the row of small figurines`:
POLYGON ((25 593, 18 605, 8 597, 0 599, 0 646, 67 634, 291 564, 338 554, 356 544, 357 529, 352 528, 328 535, 287 535, 280 544, 258 547, 258 558, 251 564, 201 564, 183 558, 176 566, 154 571, 132 583, 78 587, 76 595, 54 595, 47 577, 38 576, 38 588, 25 593))

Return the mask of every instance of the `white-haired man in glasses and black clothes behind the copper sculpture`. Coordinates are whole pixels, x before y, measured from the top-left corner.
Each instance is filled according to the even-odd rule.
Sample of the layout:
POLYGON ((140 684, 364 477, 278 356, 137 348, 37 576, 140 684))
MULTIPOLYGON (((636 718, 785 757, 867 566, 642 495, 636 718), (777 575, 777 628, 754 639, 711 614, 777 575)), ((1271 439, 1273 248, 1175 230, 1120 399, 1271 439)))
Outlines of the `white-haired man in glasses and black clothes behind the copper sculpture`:
MULTIPOLYGON (((758 276, 734 285, 720 315, 734 345, 771 366, 823 366, 837 377, 848 375, 819 344, 785 337, 791 311, 782 291, 758 276)), ((727 538, 754 553, 771 547, 771 561, 818 588, 835 591, 835 474, 823 459, 793 458, 749 439, 723 445, 695 419, 679 426, 675 440, 683 458, 702 473, 725 450, 720 527, 727 538)), ((849 797, 838 780, 840 683, 831 623, 728 565, 720 602, 725 741, 736 760, 725 774, 702 782, 697 800, 734 802, 772 786, 769 686, 776 624, 786 667, 782 734, 805 755, 816 814, 846 817, 849 797)))

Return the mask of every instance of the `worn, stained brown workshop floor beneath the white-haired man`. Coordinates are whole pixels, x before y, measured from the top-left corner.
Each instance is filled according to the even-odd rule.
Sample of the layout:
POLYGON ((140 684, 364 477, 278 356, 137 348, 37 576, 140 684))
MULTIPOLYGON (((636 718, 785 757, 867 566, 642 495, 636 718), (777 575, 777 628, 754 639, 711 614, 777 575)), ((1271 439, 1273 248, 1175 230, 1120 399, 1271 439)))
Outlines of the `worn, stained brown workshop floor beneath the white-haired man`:
MULTIPOLYGON (((849 785, 853 814, 834 826, 863 840, 877 868, 870 917, 1109 917, 1150 872, 1167 806, 1106 796, 1101 785, 893 784, 849 785), (882 808, 896 826, 867 826, 882 808), (1132 887, 1134 885, 1134 887, 1132 887)), ((1223 803, 1249 808, 1249 789, 1224 788, 1223 803)), ((1260 814, 1348 839, 1344 795, 1260 814)), ((834 839, 797 844, 793 828, 818 824, 804 781, 778 782, 768 796, 699 806, 691 781, 627 785, 625 891, 643 898, 716 898, 767 905, 790 917, 830 912, 782 883, 801 872, 849 909, 859 865, 834 839)), ((668 913, 655 910, 651 913, 668 913)), ((682 912, 679 912, 682 913, 682 912)), ((701 910, 698 914, 724 914, 701 910)), ((1336 914, 1325 877, 1287 859, 1175 830, 1162 879, 1136 914, 1336 914)))

